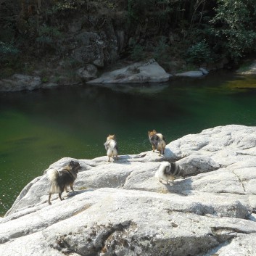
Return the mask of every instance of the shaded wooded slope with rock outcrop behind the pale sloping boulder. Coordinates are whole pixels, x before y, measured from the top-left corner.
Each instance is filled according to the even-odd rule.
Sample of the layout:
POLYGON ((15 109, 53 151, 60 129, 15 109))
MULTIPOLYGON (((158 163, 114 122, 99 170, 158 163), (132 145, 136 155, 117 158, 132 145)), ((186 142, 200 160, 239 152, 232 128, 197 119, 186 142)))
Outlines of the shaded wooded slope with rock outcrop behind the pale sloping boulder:
POLYGON ((195 67, 200 66, 232 69, 243 56, 253 56, 255 33, 248 24, 255 12, 249 11, 254 8, 249 3, 240 3, 240 14, 234 10, 249 14, 237 27, 234 15, 218 1, 181 2, 4 0, 1 91, 78 85, 99 78, 118 62, 130 62, 128 66, 154 58, 173 75, 198 72, 195 67), (196 18, 198 13, 202 17, 196 18), (227 26, 220 17, 231 23, 227 26), (220 33, 223 29, 229 36, 220 33))

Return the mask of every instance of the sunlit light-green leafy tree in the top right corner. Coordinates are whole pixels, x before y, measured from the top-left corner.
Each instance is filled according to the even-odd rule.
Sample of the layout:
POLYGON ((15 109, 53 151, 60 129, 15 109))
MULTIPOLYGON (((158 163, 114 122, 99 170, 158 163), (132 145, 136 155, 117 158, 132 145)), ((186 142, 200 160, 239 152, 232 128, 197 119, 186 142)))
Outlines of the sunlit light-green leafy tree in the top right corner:
POLYGON ((255 48, 255 0, 218 0, 211 22, 223 53, 237 61, 255 48))

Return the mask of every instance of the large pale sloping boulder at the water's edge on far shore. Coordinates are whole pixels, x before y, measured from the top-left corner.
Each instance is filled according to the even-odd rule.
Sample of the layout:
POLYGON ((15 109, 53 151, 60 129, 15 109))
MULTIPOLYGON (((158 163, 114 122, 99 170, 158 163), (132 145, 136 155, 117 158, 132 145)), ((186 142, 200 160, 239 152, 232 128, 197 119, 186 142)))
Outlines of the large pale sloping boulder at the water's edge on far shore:
POLYGON ((148 62, 136 62, 128 67, 102 74, 88 83, 160 83, 166 82, 170 74, 158 65, 154 59, 148 62))

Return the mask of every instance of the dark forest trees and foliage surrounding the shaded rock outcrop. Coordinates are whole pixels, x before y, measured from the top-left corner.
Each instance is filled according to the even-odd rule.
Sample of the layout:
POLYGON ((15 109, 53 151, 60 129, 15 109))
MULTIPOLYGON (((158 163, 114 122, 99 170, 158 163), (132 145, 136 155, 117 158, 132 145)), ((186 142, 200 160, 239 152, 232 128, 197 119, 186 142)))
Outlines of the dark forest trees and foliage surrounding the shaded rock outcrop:
POLYGON ((123 31, 104 66, 154 57, 167 70, 233 67, 256 51, 255 0, 0 0, 0 8, 1 78, 53 56, 76 65, 62 41, 78 21, 86 31, 123 31))

